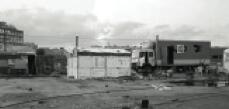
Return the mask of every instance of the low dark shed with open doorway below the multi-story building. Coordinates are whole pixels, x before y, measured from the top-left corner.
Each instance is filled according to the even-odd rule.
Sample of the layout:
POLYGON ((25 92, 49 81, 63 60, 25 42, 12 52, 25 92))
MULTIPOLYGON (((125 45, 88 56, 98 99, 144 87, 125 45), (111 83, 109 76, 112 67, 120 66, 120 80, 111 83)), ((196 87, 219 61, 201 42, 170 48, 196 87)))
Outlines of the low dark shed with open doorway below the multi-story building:
POLYGON ((21 47, 18 51, 0 53, 0 75, 22 76, 36 74, 35 52, 30 47, 21 47))

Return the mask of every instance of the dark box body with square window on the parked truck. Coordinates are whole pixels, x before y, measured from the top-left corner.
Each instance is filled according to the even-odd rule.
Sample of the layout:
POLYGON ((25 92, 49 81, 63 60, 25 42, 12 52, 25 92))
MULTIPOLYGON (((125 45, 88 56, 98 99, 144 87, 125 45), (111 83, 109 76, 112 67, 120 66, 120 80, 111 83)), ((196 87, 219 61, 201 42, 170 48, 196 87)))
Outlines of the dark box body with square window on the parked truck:
POLYGON ((159 40, 155 46, 158 66, 192 66, 210 63, 209 41, 159 40))

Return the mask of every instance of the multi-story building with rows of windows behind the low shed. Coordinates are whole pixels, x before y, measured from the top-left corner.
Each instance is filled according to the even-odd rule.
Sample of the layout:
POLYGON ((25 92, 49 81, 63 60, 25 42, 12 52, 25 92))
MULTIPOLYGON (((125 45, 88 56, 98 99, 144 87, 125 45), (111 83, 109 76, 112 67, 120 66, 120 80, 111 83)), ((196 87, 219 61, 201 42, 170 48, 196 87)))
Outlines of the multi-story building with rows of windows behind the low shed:
POLYGON ((22 45, 23 43, 24 32, 22 30, 18 30, 15 26, 9 25, 6 22, 0 22, 1 46, 22 45))

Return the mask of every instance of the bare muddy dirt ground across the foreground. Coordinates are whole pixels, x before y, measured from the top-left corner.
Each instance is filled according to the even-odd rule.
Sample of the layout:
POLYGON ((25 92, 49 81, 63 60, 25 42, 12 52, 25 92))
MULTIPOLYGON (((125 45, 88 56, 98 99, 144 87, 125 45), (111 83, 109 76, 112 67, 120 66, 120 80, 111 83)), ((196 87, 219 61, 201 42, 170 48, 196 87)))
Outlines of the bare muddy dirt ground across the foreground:
POLYGON ((140 109, 145 99, 151 109, 228 109, 229 88, 176 86, 161 80, 0 79, 4 109, 140 109))

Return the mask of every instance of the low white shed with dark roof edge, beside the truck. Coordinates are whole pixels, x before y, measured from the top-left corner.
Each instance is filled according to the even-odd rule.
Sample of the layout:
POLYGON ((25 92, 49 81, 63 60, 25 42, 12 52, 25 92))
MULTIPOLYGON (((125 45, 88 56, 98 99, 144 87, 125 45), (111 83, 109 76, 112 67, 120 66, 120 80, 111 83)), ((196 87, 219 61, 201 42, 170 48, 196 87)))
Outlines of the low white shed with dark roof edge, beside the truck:
POLYGON ((130 72, 131 53, 123 49, 79 49, 68 58, 69 78, 130 76, 130 72))

